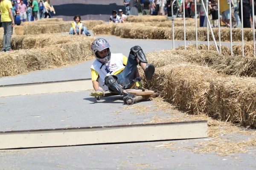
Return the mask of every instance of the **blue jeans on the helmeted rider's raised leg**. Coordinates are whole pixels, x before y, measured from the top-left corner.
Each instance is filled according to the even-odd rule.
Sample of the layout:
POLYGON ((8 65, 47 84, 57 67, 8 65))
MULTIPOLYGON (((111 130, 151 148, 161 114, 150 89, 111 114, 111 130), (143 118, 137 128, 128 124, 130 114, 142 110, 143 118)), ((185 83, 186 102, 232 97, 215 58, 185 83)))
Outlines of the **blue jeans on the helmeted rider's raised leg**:
POLYGON ((133 80, 135 77, 135 72, 137 70, 138 62, 136 58, 129 54, 127 64, 125 66, 125 69, 116 75, 117 77, 117 83, 119 85, 122 85, 124 89, 130 88, 131 85, 134 83, 133 80))

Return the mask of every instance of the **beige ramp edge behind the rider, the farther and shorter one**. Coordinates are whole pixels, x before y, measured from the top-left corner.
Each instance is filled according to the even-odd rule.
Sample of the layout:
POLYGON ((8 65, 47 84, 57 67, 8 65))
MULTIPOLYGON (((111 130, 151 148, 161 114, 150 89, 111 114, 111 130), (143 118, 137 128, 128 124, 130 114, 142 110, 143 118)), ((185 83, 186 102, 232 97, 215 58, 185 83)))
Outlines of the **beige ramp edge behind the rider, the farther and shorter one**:
POLYGON ((93 89, 91 79, 0 85, 0 97, 86 91, 89 89, 93 89))

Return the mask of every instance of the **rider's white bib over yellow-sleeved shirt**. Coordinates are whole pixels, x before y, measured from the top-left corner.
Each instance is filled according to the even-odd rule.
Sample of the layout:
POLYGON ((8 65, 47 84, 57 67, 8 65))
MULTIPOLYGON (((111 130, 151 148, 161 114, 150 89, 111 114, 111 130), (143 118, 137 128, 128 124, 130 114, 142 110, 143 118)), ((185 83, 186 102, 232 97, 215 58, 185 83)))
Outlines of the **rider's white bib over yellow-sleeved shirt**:
POLYGON ((104 91, 108 90, 106 85, 103 86, 105 77, 109 75, 116 75, 125 69, 128 58, 121 53, 111 54, 111 59, 108 63, 102 64, 97 59, 91 66, 92 81, 99 82, 99 87, 104 91))

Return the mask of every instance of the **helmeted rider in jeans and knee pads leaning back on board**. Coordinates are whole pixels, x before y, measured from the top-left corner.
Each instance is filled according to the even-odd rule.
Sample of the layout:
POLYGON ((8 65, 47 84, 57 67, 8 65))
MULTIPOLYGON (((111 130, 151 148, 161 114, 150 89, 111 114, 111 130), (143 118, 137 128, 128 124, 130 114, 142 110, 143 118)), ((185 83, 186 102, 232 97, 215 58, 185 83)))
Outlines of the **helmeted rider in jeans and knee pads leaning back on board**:
POLYGON ((114 91, 124 96, 123 101, 127 104, 127 99, 135 96, 125 89, 131 88, 134 80, 140 79, 137 65, 143 68, 147 80, 153 77, 154 65, 148 64, 142 48, 138 45, 131 48, 128 58, 121 53, 111 54, 110 45, 103 38, 94 40, 91 50, 95 57, 91 65, 91 75, 93 88, 96 91, 91 93, 91 96, 101 96, 104 94, 103 91, 114 91))

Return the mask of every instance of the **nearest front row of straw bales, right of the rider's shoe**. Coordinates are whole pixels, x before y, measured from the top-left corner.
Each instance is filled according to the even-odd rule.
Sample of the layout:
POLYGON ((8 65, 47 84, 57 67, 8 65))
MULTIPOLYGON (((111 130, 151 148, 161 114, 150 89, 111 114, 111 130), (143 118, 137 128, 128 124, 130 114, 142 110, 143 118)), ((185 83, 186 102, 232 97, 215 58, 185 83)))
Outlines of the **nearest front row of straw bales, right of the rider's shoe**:
POLYGON ((142 78, 145 88, 159 91, 181 111, 256 127, 255 78, 218 74, 187 62, 156 68, 151 81, 142 78))

